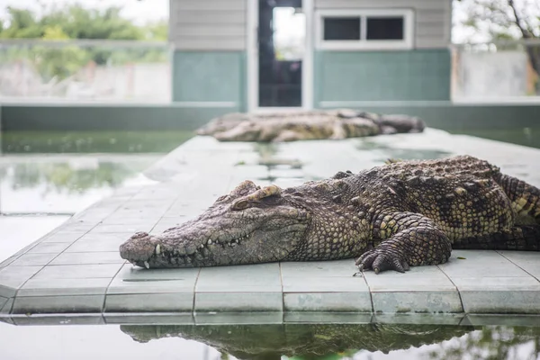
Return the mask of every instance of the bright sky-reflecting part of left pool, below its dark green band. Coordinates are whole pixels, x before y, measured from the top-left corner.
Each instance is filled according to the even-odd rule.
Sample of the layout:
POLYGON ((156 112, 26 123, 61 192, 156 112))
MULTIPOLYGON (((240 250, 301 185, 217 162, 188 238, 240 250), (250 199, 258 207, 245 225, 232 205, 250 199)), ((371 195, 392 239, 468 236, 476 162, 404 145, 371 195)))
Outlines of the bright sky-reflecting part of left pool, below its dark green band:
POLYGON ((160 154, 0 157, 0 261, 121 186, 151 184, 142 172, 160 154))

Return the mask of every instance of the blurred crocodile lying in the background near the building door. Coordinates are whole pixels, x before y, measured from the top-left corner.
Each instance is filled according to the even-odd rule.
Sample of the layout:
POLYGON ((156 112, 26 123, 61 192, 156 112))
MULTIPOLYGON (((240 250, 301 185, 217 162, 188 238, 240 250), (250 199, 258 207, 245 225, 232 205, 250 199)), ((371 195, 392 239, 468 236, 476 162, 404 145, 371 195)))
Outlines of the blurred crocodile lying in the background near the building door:
POLYGON ((378 114, 350 109, 307 112, 233 112, 212 119, 197 130, 220 141, 284 142, 306 139, 346 139, 422 132, 418 117, 378 114))

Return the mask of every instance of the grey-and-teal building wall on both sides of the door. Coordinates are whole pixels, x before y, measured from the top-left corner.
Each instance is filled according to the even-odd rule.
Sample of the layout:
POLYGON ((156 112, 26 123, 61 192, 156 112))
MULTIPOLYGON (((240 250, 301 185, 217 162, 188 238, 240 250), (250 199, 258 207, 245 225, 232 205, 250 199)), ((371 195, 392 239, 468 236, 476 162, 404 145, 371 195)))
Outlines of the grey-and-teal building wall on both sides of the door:
MULTIPOLYGON (((170 0, 173 101, 247 110, 247 1, 257 0, 170 0)), ((450 99, 451 0, 313 2, 315 10, 414 8, 416 22, 410 51, 315 51, 315 107, 332 101, 450 99)))

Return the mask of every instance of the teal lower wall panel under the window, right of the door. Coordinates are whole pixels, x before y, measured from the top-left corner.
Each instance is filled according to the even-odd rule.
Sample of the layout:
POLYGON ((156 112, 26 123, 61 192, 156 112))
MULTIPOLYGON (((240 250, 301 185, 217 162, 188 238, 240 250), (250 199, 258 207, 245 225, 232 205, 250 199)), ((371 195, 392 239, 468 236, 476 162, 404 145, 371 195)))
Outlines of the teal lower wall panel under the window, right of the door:
POLYGON ((448 49, 316 51, 316 107, 321 101, 449 100, 448 49))

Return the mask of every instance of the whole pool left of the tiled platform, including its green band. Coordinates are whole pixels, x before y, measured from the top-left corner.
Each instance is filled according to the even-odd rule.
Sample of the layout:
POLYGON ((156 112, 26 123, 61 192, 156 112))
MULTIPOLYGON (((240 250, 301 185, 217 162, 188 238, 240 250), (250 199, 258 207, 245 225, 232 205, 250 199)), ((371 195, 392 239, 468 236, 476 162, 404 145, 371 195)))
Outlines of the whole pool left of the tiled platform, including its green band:
POLYGON ((0 261, 141 173, 193 131, 14 131, 1 133, 0 261))

